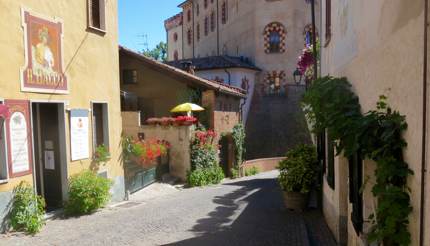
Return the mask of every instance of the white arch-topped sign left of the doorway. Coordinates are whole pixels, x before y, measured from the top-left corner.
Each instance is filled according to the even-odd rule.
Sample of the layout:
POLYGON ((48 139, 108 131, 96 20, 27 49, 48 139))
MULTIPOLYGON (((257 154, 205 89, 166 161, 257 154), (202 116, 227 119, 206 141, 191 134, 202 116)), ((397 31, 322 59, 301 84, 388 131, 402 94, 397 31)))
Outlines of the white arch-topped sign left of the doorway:
POLYGON ((10 117, 10 149, 12 156, 12 172, 20 173, 30 170, 28 153, 27 121, 21 112, 10 117))

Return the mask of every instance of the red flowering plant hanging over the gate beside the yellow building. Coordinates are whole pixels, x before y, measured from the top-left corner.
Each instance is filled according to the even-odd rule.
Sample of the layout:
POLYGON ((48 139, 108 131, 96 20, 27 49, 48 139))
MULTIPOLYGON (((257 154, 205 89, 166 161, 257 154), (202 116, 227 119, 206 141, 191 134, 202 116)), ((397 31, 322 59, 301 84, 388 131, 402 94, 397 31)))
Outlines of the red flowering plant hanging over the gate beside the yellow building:
POLYGON ((123 155, 144 167, 157 165, 157 159, 167 155, 171 145, 166 140, 135 140, 126 137, 123 140, 123 155))

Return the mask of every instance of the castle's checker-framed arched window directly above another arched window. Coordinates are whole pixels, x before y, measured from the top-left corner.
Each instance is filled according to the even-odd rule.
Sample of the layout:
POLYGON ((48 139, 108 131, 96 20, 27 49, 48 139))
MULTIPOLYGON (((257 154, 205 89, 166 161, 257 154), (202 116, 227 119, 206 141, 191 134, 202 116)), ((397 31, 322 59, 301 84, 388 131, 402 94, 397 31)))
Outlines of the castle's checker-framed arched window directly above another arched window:
POLYGON ((287 37, 284 26, 273 22, 264 29, 264 50, 266 53, 285 52, 285 39, 287 37))

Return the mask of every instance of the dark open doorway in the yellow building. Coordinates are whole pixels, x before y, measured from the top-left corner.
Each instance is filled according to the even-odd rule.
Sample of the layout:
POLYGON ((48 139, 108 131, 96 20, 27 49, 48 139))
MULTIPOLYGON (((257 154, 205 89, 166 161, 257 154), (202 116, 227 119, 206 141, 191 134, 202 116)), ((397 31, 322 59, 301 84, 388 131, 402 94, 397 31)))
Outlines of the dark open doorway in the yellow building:
POLYGON ((47 210, 62 207, 67 181, 64 104, 32 103, 35 183, 47 210))

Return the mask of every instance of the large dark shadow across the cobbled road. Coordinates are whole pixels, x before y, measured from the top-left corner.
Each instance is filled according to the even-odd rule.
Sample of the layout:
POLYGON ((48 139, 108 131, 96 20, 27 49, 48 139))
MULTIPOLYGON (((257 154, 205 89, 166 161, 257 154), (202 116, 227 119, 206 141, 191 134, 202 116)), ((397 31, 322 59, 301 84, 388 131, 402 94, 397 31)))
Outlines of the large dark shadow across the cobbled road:
POLYGON ((168 245, 309 245, 304 218, 284 209, 276 179, 227 186, 238 189, 213 199, 218 206, 196 221, 195 237, 168 245))

